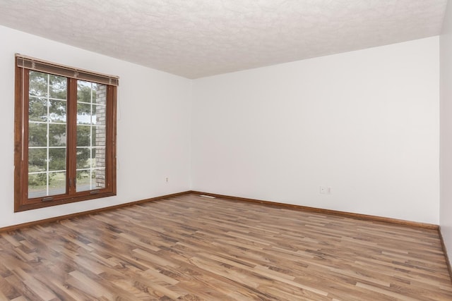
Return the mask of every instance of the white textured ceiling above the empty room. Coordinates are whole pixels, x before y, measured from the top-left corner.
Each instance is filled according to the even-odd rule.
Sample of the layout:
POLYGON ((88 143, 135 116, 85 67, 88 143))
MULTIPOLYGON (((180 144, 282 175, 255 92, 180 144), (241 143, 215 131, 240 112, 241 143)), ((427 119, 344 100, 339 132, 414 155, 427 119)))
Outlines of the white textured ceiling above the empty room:
POLYGON ((202 78, 439 35, 446 3, 0 0, 0 25, 202 78))

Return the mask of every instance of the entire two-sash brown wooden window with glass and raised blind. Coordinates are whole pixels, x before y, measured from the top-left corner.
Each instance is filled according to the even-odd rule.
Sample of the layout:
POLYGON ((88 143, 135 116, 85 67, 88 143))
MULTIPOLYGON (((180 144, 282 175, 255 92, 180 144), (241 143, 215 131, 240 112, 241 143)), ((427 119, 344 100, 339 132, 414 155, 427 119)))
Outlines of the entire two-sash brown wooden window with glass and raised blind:
POLYGON ((16 54, 15 211, 116 195, 117 84, 16 54))

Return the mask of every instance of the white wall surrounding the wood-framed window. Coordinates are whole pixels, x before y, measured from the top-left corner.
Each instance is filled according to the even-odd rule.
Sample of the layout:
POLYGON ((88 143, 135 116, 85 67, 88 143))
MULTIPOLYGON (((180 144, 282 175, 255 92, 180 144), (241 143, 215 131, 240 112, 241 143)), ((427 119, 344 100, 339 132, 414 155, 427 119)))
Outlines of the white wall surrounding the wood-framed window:
POLYGON ((191 80, 7 27, 0 40, 0 227, 189 190, 191 80), (120 76, 116 197, 13 213, 15 53, 120 76))

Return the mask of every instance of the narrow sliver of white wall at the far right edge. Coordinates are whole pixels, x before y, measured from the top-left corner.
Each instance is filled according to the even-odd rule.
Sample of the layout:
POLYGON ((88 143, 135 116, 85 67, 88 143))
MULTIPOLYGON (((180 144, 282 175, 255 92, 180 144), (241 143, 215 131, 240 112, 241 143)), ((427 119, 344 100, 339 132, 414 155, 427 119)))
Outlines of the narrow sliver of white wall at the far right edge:
POLYGON ((439 224, 452 264, 452 3, 448 1, 440 42, 441 202, 439 224))

